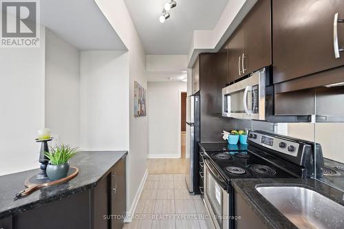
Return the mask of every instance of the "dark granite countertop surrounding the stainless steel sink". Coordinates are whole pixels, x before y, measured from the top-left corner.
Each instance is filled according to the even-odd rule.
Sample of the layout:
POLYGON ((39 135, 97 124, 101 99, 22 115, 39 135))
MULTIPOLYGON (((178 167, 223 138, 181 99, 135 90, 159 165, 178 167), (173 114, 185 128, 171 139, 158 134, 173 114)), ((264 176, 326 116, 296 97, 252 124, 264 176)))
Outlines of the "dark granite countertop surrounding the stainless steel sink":
POLYGON ((344 206, 343 193, 340 190, 316 181, 315 179, 232 179, 231 184, 255 214, 264 221, 266 226, 273 229, 297 227, 258 193, 255 189, 257 185, 290 186, 292 184, 294 186, 304 186, 344 206))

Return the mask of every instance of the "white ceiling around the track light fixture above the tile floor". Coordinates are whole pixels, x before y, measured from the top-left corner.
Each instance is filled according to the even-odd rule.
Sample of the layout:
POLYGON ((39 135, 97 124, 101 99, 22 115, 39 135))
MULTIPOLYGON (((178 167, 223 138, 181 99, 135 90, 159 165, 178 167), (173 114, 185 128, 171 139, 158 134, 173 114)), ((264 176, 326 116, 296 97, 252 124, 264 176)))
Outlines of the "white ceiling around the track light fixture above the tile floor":
POLYGON ((171 17, 160 23, 170 0, 125 0, 147 54, 188 54, 193 30, 213 30, 228 0, 175 0, 171 17))

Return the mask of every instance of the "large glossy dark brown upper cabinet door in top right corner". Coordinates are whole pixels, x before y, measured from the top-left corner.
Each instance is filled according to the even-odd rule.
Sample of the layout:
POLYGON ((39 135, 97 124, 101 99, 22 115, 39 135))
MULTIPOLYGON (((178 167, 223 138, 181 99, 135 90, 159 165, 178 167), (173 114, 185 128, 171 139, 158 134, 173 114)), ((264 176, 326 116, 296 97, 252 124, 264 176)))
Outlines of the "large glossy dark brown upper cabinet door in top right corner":
POLYGON ((273 0, 274 83, 344 65, 343 0, 273 0), (338 14, 337 14, 338 13, 338 14), (336 19, 336 15, 338 19, 336 19))

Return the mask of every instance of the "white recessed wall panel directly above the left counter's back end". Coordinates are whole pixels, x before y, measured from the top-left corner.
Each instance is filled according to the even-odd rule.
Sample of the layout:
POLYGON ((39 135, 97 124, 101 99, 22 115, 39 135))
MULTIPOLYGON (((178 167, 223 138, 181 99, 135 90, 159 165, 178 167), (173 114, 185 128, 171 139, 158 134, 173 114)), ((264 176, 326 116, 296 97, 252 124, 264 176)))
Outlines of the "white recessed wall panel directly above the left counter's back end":
POLYGON ((80 142, 84 150, 129 149, 128 55, 80 52, 80 142))

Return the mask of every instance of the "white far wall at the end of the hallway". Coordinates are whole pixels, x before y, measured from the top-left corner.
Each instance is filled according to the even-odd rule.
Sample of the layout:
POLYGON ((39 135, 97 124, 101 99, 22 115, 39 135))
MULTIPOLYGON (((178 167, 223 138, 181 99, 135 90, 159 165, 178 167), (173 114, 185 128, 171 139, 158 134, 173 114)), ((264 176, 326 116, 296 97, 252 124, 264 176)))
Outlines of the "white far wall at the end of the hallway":
POLYGON ((148 157, 180 157, 180 91, 186 83, 148 83, 148 157))

